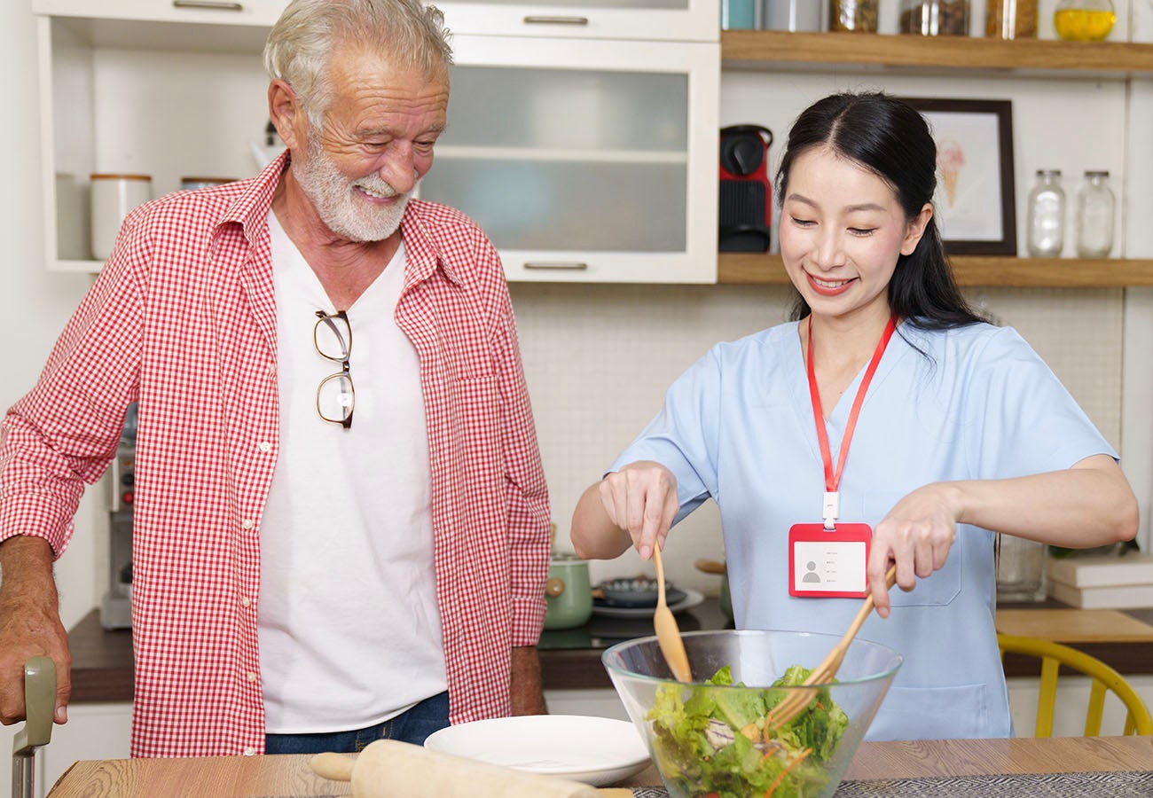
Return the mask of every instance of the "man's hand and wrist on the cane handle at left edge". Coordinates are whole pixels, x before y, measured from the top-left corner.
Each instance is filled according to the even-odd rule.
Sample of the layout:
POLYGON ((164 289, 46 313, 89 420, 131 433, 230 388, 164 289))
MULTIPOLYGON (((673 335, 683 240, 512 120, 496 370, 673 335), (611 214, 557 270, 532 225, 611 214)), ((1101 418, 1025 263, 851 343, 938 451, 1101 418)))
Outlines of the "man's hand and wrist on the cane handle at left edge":
POLYGON ((56 664, 55 722, 68 721, 71 655, 52 579, 52 548, 18 535, 0 543, 0 723, 24 720, 24 663, 46 655, 56 664))

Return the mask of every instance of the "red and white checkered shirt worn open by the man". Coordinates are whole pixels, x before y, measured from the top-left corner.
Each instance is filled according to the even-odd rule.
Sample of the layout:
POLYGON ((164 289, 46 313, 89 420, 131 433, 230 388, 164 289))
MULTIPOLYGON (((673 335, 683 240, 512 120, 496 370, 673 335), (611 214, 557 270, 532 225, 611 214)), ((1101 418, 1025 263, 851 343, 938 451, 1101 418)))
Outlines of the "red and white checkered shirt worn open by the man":
MULTIPOLYGON (((256 597, 279 451, 266 217, 285 161, 134 211, 3 421, 0 540, 42 536, 59 556, 83 483, 140 401, 134 756, 264 750, 256 597)), ((401 233, 395 319, 420 357, 452 721, 507 715, 510 649, 537 641, 549 560, 512 303, 492 244, 461 213, 414 201, 401 233)))

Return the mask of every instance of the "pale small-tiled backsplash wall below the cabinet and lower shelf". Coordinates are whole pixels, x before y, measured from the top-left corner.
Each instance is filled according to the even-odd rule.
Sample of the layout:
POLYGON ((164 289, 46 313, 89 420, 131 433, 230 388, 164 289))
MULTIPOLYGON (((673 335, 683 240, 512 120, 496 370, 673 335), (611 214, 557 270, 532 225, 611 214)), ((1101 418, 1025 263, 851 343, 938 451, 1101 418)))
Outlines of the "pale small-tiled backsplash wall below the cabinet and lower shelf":
MULTIPOLYGON (((511 285, 525 371, 549 481, 558 548, 581 492, 660 409, 665 389, 721 340, 783 322, 783 286, 511 285)), ((1121 438, 1121 289, 967 289, 1015 326, 1115 446, 1121 438)), ((715 594, 718 577, 693 567, 723 559, 721 520, 707 503, 670 536, 670 580, 715 594)), ((594 582, 653 573, 630 551, 590 564, 594 582)))

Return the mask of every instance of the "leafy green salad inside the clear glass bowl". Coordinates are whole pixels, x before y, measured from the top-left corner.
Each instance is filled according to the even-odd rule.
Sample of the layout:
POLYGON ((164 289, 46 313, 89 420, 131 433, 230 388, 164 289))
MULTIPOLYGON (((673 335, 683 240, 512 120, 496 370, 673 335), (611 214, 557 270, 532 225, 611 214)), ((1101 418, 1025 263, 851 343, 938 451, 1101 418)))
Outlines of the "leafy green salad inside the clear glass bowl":
MULTIPOLYGON (((799 685, 809 672, 793 665, 764 690, 696 685, 685 700, 681 685, 657 687, 648 714, 657 768, 694 798, 817 796, 829 782, 826 762, 849 725, 828 688, 819 690, 808 708, 785 725, 764 728, 768 712, 786 697, 774 687, 799 685)), ((732 685, 729 665, 707 685, 732 685)))

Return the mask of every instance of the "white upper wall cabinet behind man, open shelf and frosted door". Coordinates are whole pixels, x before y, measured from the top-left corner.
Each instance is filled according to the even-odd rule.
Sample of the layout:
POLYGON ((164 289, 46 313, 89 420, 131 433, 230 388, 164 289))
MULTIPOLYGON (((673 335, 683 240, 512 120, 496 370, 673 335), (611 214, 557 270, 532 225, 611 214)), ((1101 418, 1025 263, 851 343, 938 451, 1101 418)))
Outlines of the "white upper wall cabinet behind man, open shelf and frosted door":
MULTIPOLYGON (((704 0, 653 1, 699 13, 704 0)), ((282 5, 33 0, 51 269, 100 269, 89 247, 92 173, 149 174, 153 196, 183 176, 256 173, 251 145, 267 122, 261 51, 282 5)), ((445 7, 450 129, 420 196, 477 219, 512 280, 715 283, 713 16, 711 42, 648 38, 671 36, 660 25, 642 27, 645 40, 547 28, 480 36, 453 23, 458 6, 482 8, 445 7)))

